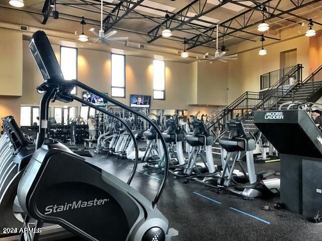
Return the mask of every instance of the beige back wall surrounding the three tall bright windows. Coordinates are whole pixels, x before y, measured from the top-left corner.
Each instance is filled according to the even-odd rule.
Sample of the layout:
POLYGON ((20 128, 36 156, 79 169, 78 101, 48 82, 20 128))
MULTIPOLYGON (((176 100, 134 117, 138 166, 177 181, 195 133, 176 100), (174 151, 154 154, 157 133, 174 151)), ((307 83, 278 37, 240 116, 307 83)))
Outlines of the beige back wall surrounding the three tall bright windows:
MULTIPOLYGON (((22 57, 22 96, 21 97, 1 97, 0 113, 1 116, 13 115, 16 121, 20 123, 21 105, 38 105, 42 95, 36 91, 36 86, 43 79, 35 64, 35 61, 29 51, 28 41, 21 41, 23 44, 22 57)), ((59 61, 58 45, 52 45, 56 57, 59 61)), ((102 51, 78 49, 78 71, 79 81, 98 89, 101 92, 111 92, 111 72, 110 61, 111 54, 102 51)), ((142 57, 126 56, 126 98, 116 98, 118 101, 129 104, 130 94, 153 95, 153 60, 142 57)), ((196 97, 197 81, 196 65, 166 62, 166 100, 151 100, 151 107, 164 109, 189 109, 189 104, 196 97)), ((0 77, 3 81, 3 78, 0 77)), ((8 84, 10 88, 14 85, 8 84)), ((82 96, 83 89, 77 89, 77 95, 82 96)), ((81 106, 76 101, 72 103, 55 102, 53 106, 81 106)), ((192 107, 195 108, 194 106, 192 107)), ((206 108, 207 109, 207 108, 206 108)), ((209 109, 210 111, 210 109, 209 109)), ((211 110, 212 111, 212 110, 211 110)), ((210 111, 210 112, 211 112, 210 111)), ((79 110, 78 110, 79 112, 79 110)))

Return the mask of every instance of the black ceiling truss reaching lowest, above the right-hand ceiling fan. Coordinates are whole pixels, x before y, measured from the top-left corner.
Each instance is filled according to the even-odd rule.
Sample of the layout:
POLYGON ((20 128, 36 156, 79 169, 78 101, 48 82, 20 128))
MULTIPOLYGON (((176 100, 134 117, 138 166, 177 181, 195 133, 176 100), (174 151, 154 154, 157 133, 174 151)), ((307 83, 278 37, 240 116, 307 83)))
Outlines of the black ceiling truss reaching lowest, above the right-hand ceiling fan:
MULTIPOLYGON (((290 12, 293 12, 295 10, 298 10, 298 9, 301 9, 301 8, 304 8, 306 6, 309 6, 309 5, 312 5, 314 3, 317 3, 317 2, 320 2, 321 0, 312 0, 312 1, 305 1, 305 0, 302 0, 301 3, 298 4, 298 6, 294 7, 294 8, 291 8, 291 9, 288 9, 288 10, 279 10, 279 13, 278 14, 269 14, 265 17, 265 21, 268 21, 268 20, 271 20, 271 19, 274 19, 274 18, 277 18, 277 17, 280 17, 282 15, 285 15, 285 14, 289 14, 290 12), (304 3, 305 2, 305 3, 304 3)), ((243 1, 239 1, 239 2, 243 2, 243 1)), ((220 38, 224 37, 224 36, 227 36, 227 35, 231 35, 231 34, 234 34, 236 32, 241 32, 241 33, 250 33, 250 32, 246 32, 245 29, 248 29, 250 27, 254 27, 254 26, 257 26, 258 24, 262 23, 263 20, 260 20, 260 21, 252 21, 252 17, 253 17, 253 13, 254 11, 260 11, 259 7, 260 5, 266 5, 268 6, 267 4, 270 3, 271 0, 268 0, 268 1, 265 1, 263 3, 259 3, 258 6, 255 6, 255 7, 250 7, 250 6, 247 6, 247 5, 243 5, 243 7, 247 7, 249 10, 248 11, 245 11, 229 20, 226 20, 222 23, 219 24, 219 32, 221 33, 221 36, 220 38), (238 22, 238 25, 241 25, 243 27, 240 27, 238 29, 235 29, 235 30, 232 30, 232 31, 228 31, 229 29, 232 29, 231 28, 231 24, 233 22, 238 22)), ((232 2, 233 4, 237 4, 237 1, 234 1, 232 2)), ((279 3, 278 3, 279 4, 279 3)), ((237 5, 240 5, 240 3, 238 3, 237 5)), ((271 8, 276 8, 271 6, 271 8)), ((199 20, 198 20, 199 21, 199 20)), ((208 38, 206 39, 203 39, 201 41, 201 37, 199 35, 196 35, 194 36, 193 38, 190 38, 190 39, 187 39, 187 42, 188 42, 188 50, 189 49, 193 49, 195 47, 198 47, 198 46, 201 46, 202 44, 207 44, 211 41, 213 41, 215 38, 213 36, 214 34, 214 30, 216 29, 216 26, 206 30, 203 32, 204 35, 207 35, 208 38), (198 40, 199 42, 201 43, 197 43, 196 40, 198 40)), ((253 33, 254 34, 254 33, 253 33)), ((256 34, 256 35, 259 35, 259 34, 256 34)), ((265 36, 265 38, 271 38, 269 36, 265 36)), ((272 38, 271 38, 272 39, 272 38)))

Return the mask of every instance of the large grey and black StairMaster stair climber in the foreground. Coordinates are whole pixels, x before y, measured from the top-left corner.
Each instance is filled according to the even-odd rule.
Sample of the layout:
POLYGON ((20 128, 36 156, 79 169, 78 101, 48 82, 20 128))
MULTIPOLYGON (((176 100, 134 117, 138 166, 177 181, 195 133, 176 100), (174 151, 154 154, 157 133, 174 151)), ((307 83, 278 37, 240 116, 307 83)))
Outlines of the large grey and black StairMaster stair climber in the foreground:
MULTIPOLYGON (((156 208, 169 169, 164 139, 161 137, 160 141, 166 154, 165 178, 151 203, 129 186, 138 163, 137 153, 131 177, 124 183, 50 139, 47 126, 49 101, 77 100, 123 122, 116 115, 70 94, 77 86, 146 119, 151 126, 155 126, 154 123, 140 112, 77 80, 64 80, 43 31, 33 34, 29 48, 44 78, 37 89, 44 93, 40 102, 35 152, 20 179, 17 192, 19 203, 27 214, 24 227, 33 226, 31 218, 34 218, 35 230, 44 222, 56 223, 86 240, 166 240, 172 232, 169 231, 167 218, 156 208)), ((122 124, 134 138, 130 127, 125 122, 122 124)), ((157 134, 162 136, 155 128, 157 134)), ((137 152, 136 141, 135 149, 137 152)), ((39 233, 25 233, 20 240, 37 240, 38 237, 39 233)))

